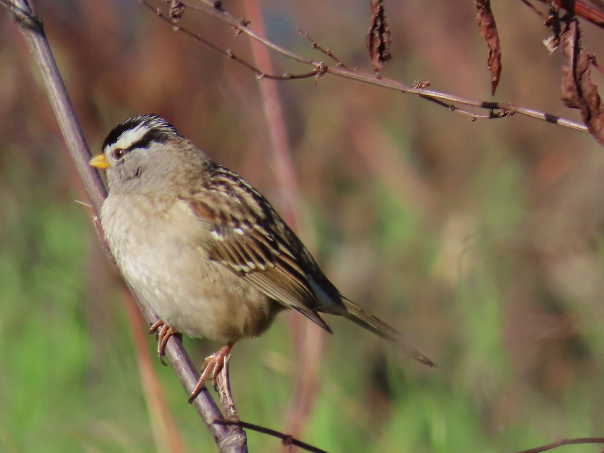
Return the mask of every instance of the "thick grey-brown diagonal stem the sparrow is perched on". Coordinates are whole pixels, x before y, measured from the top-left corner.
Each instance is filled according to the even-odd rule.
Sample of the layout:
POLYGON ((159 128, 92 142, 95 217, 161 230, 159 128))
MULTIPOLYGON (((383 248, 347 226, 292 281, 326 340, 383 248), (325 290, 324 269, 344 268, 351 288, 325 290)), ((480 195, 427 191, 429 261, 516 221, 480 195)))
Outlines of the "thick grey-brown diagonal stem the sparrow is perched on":
MULTIPOLYGON (((7 8, 30 49, 63 138, 65 138, 69 155, 76 165, 77 172, 82 179, 86 193, 88 193, 92 208, 98 216, 101 205, 106 197, 106 190, 98 172, 88 165, 91 154, 84 140, 71 101, 66 93, 53 54, 48 46, 42 21, 37 16, 36 10, 33 7, 33 0, 28 0, 28 2, 25 0, 0 0, 0 5, 7 8)), ((102 234, 102 231, 100 233, 102 234)), ((108 249, 106 249, 106 252, 108 252, 108 249)), ((157 320, 157 316, 149 304, 137 295, 135 295, 135 300, 147 323, 154 323, 157 320)), ((182 347, 181 341, 172 336, 165 352, 185 391, 190 393, 197 384, 199 374, 182 347)), ((218 426, 213 423, 213 420, 222 417, 222 414, 207 390, 202 391, 193 404, 208 426, 220 452, 247 452, 245 432, 242 429, 238 429, 236 434, 233 434, 232 431, 226 429, 224 426, 218 426)))

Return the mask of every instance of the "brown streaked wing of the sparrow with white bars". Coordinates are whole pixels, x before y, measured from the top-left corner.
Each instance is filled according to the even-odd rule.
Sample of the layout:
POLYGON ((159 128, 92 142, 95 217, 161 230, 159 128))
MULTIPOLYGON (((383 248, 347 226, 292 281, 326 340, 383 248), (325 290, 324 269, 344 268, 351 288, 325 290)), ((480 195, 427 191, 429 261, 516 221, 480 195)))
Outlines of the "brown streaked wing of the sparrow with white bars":
POLYGON ((301 255, 281 236, 272 207, 251 185, 219 168, 208 187, 182 198, 204 223, 213 240, 205 248, 210 257, 243 278, 263 294, 297 310, 327 332, 332 330, 316 312, 301 255))

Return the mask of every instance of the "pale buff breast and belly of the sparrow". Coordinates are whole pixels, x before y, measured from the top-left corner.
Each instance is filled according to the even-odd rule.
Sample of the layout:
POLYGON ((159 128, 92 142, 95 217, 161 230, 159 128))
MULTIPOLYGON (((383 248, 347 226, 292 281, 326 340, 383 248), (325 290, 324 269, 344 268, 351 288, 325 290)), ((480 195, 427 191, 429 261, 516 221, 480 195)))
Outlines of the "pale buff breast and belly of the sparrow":
POLYGON ((264 332, 282 306, 208 259, 199 244, 209 233, 184 204, 147 204, 155 210, 149 220, 143 203, 110 195, 101 224, 124 278, 159 318, 178 332, 225 342, 264 332))

